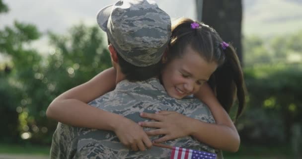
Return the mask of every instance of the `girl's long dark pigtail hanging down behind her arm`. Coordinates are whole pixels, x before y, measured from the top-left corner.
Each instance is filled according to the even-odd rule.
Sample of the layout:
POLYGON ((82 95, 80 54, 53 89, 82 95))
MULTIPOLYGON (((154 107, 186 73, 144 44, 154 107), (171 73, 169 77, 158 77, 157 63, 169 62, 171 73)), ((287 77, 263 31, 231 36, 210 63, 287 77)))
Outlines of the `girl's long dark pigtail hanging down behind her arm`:
POLYGON ((212 85, 211 87, 215 90, 217 99, 227 113, 229 113, 237 98, 238 109, 235 118, 237 119, 245 105, 246 88, 243 73, 234 48, 228 46, 222 51, 225 54, 225 63, 214 72, 212 79, 210 79, 210 85, 212 85))

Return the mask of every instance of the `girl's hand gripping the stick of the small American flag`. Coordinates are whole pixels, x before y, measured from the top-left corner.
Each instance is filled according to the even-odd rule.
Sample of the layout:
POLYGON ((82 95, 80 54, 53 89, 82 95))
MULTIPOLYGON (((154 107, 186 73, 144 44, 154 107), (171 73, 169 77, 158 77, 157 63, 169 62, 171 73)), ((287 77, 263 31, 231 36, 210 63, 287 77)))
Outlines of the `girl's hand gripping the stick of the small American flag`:
POLYGON ((146 147, 151 148, 152 146, 152 142, 143 128, 130 119, 120 120, 114 132, 121 143, 133 151, 145 151, 146 147))

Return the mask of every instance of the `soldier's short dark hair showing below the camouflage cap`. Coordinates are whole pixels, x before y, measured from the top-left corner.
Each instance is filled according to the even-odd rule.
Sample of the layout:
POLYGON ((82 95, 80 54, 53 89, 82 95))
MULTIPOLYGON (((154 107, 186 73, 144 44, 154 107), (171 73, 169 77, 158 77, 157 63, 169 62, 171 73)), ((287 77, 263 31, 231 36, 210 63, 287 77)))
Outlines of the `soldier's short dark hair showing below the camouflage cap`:
MULTIPOLYGON (((108 40, 108 45, 111 44, 108 40)), ((114 46, 113 46, 114 47, 114 46)), ((160 74, 162 68, 161 61, 158 63, 147 66, 147 67, 138 67, 128 63, 124 60, 121 55, 117 52, 117 57, 122 73, 125 75, 125 78, 129 81, 142 81, 147 80, 153 77, 156 77, 160 74)))

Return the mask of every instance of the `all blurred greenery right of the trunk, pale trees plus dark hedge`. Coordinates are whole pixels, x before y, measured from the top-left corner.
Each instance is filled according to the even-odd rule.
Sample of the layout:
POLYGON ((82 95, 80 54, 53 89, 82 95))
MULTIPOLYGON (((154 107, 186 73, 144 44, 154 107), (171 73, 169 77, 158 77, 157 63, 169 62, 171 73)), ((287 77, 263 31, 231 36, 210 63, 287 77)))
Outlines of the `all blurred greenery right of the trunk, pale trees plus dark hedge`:
POLYGON ((244 39, 248 103, 237 122, 242 141, 290 143, 293 125, 302 127, 301 43, 302 31, 270 39, 244 39))

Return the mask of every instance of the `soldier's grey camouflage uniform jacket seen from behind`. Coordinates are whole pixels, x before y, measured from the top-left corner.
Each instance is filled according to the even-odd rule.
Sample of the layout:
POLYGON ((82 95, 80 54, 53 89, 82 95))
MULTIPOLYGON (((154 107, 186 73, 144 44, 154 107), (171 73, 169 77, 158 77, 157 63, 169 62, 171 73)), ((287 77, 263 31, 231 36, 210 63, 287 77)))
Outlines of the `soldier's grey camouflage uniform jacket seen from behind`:
MULTIPOLYGON (((122 80, 115 90, 89 104, 123 115, 135 122, 147 121, 140 117, 140 112, 154 113, 169 110, 203 122, 215 123, 205 104, 193 97, 181 100, 171 98, 159 80, 154 78, 140 82, 122 80)), ((144 128, 144 130, 150 129, 144 128)), ((154 138, 158 136, 151 139, 154 138)), ((215 153, 213 148, 198 142, 191 136, 170 140, 164 144, 215 153)), ((144 152, 130 151, 119 142, 114 132, 77 128, 63 123, 58 124, 51 148, 51 159, 169 159, 170 155, 171 150, 154 146, 144 152)), ((222 158, 222 155, 218 154, 218 159, 222 158)))

